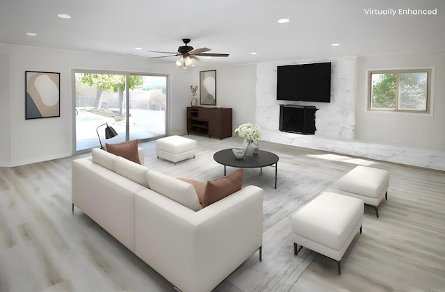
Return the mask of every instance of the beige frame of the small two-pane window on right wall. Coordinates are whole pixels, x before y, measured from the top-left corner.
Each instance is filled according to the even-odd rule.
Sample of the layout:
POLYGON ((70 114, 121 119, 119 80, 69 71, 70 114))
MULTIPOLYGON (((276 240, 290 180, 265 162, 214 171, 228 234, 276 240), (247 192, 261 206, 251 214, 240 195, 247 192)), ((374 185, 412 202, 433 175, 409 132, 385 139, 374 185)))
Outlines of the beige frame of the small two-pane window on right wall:
POLYGON ((368 83, 366 88, 366 110, 375 112, 389 112, 389 113, 415 113, 421 115, 430 115, 432 113, 432 76, 434 73, 434 68, 432 67, 421 67, 412 69, 385 69, 385 70, 369 70, 367 77, 368 83), (426 73, 427 74, 427 88, 426 88, 426 110, 425 111, 415 111, 415 110, 405 110, 399 108, 400 102, 400 78, 401 74, 404 73, 426 73), (373 74, 396 74, 396 108, 373 108, 372 103, 372 75, 373 74))

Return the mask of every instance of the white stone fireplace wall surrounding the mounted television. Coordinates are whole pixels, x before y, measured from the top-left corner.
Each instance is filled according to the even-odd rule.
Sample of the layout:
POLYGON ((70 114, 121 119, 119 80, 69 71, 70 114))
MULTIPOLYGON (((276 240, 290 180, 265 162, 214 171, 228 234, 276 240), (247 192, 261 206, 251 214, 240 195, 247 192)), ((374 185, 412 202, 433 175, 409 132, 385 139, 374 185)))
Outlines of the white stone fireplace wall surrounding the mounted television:
MULTIPOLYGON (((257 124, 268 130, 264 138, 275 140, 280 120, 280 104, 316 106, 315 136, 354 138, 356 57, 317 60, 287 60, 257 64, 257 124), (304 63, 332 63, 331 102, 283 102, 277 100, 277 66, 304 63)), ((293 135, 295 136, 295 135, 293 135)), ((296 136, 300 137, 300 135, 296 136)))

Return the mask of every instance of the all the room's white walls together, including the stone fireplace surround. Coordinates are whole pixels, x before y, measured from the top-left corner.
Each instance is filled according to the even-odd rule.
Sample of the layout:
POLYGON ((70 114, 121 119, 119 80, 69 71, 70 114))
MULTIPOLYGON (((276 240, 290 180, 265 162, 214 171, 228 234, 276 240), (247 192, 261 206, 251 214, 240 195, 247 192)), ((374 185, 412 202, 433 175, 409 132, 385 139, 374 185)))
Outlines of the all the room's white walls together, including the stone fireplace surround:
POLYGON ((177 70, 173 63, 152 63, 144 58, 0 44, 0 166, 22 165, 72 154, 71 70, 81 68, 170 74, 168 133, 186 132, 186 106, 191 102, 189 87, 199 84, 200 70, 216 70, 217 106, 233 108, 234 128, 245 122, 257 122, 264 140, 445 170, 444 56, 445 52, 440 51, 238 66, 209 66, 202 62, 197 64, 202 67, 177 70), (325 60, 333 63, 332 103, 304 103, 320 108, 316 113, 316 134, 280 132, 280 103, 275 100, 276 65, 325 60), (398 120, 396 115, 380 117, 364 113, 364 71, 383 65, 435 66, 432 117, 419 122, 416 116, 398 120), (26 70, 60 72, 60 117, 25 120, 26 70), (380 119, 385 119, 384 125, 380 124, 380 119), (380 129, 396 127, 401 135, 388 136, 386 131, 377 134, 380 133, 375 131, 378 126, 380 129))

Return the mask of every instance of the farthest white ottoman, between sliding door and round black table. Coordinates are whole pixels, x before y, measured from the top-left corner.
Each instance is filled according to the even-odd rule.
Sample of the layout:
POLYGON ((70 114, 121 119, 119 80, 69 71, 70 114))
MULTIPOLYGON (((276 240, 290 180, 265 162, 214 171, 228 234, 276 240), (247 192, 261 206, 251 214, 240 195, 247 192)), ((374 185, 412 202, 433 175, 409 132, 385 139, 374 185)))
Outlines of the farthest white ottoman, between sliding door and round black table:
POLYGON ((156 156, 172 161, 195 158, 196 141, 181 136, 169 136, 156 140, 156 156))

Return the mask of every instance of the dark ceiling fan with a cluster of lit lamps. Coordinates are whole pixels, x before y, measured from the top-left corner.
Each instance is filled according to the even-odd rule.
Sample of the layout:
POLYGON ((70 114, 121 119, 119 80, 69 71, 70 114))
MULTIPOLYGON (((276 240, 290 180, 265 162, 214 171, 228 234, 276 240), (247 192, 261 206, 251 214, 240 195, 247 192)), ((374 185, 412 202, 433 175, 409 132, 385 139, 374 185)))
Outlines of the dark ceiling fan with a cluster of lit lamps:
MULTIPOLYGON (((177 60, 176 65, 177 67, 181 67, 184 65, 184 67, 188 67, 192 63, 192 59, 194 60, 200 60, 198 56, 207 56, 207 57, 228 57, 229 54, 215 54, 215 53, 206 53, 206 51, 210 51, 209 48, 200 48, 200 49, 193 49, 192 46, 188 46, 188 43, 190 42, 189 38, 183 38, 182 41, 184 42, 184 46, 180 46, 178 48, 177 53, 173 53, 171 51, 151 51, 153 53, 161 53, 161 54, 170 54, 168 56, 159 56, 159 57, 150 57, 153 58, 166 58, 166 57, 172 57, 172 56, 181 56, 179 60, 177 60)), ((150 51, 150 50, 148 50, 150 51)))

